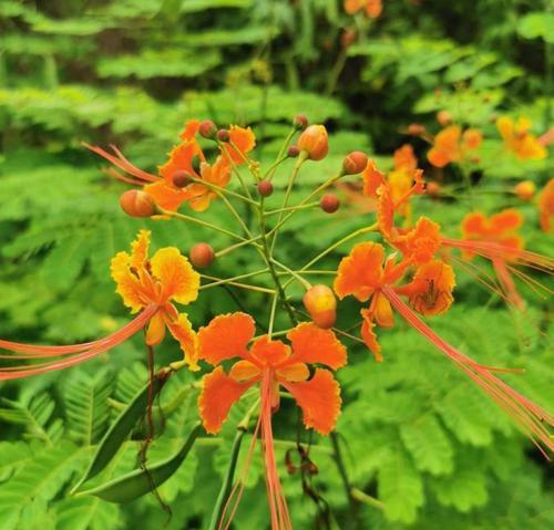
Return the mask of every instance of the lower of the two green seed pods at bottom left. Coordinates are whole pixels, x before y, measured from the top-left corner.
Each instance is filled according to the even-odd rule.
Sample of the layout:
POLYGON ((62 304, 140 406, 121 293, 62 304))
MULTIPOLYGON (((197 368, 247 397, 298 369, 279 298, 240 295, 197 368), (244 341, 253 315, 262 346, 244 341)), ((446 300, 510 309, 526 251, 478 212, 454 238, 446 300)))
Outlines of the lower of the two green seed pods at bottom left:
POLYGON ((146 469, 135 469, 123 477, 111 480, 98 488, 81 491, 78 495, 93 495, 109 502, 129 502, 148 493, 175 474, 188 455, 201 430, 202 426, 197 423, 181 449, 167 460, 148 465, 146 469))

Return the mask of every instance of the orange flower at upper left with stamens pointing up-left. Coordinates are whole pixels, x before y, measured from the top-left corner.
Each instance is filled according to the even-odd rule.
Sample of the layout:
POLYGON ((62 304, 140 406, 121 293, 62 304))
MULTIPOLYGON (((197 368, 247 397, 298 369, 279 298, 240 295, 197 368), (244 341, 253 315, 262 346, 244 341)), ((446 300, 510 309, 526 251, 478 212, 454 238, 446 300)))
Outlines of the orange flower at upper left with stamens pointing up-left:
POLYGON ((185 124, 179 134, 181 143, 170 152, 167 160, 158 167, 157 175, 138 169, 113 145, 113 154, 96 146, 84 145, 126 174, 111 168, 111 175, 127 184, 143 186, 144 191, 161 208, 176 211, 186 202, 193 210, 204 211, 212 199, 217 197, 213 186, 225 188, 228 185, 233 166, 247 162, 247 153, 254 148, 256 139, 249 127, 232 125, 228 142, 220 143, 219 155, 209 164, 198 143, 198 132, 197 119, 185 124), (182 176, 188 176, 191 181, 185 178, 181 184, 182 176))

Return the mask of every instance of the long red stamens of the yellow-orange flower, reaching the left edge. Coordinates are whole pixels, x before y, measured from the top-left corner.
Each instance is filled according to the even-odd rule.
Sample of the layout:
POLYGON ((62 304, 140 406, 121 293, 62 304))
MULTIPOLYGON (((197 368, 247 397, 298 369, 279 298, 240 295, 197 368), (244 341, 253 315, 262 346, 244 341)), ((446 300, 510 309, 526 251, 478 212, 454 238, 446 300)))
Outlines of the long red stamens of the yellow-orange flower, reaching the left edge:
POLYGON ((135 319, 116 332, 93 342, 63 346, 34 346, 32 344, 22 344, 0 340, 0 349, 17 353, 16 355, 1 355, 0 358, 29 360, 70 355, 69 357, 62 360, 45 363, 0 367, 0 381, 20 380, 30 377, 31 375, 52 372, 54 370, 63 370, 75 364, 83 363, 89 358, 107 352, 112 347, 125 342, 127 339, 141 331, 157 310, 158 308, 156 305, 148 305, 135 319), (18 353, 22 353, 22 355, 18 355, 18 353))

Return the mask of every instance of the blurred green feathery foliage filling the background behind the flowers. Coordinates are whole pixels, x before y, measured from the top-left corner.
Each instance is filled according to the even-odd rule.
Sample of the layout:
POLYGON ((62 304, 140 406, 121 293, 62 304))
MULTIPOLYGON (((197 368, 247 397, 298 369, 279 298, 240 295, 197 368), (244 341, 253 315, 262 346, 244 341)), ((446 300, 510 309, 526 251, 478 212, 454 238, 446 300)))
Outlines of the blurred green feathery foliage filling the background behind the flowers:
MULTIPOLYGON (((129 314, 114 293, 109 262, 141 227, 152 229, 156 247, 173 245, 185 253, 199 240, 216 249, 229 245, 196 227, 125 217, 117 206, 124 185, 104 175, 102 160, 81 146, 113 143, 137 166, 153 170, 193 117, 252 125, 258 138, 255 157, 266 167, 296 113, 325 123, 330 154, 305 166, 294 204, 332 176, 349 150, 365 150, 387 168, 392 150, 411 142, 423 158, 427 146, 409 138, 406 127, 418 122, 437 132, 434 115, 447 110, 486 138, 472 166, 479 181, 473 206, 489 212, 517 206, 526 219, 527 248, 548 253, 552 238, 538 231, 536 207, 516 201, 507 190, 523 178, 542 186, 551 163, 523 163, 505 152, 499 156, 502 144, 493 124, 507 114, 529 116, 538 134, 550 125, 554 27, 547 3, 384 0, 383 15, 370 22, 347 17, 336 0, 2 0, 0 336, 72 343, 125 323, 129 314), (358 39, 343 49, 340 35, 352 27, 358 39)), ((420 199, 417 211, 455 237, 472 208, 461 175, 452 167, 432 169, 424 158, 421 165, 444 181, 453 199, 420 199)), ((285 186, 290 167, 279 168, 276 187, 285 186)), ((234 222, 220 204, 203 219, 234 222)), ((319 210, 298 214, 279 239, 279 259, 301 266, 371 219, 348 204, 332 217, 319 210)), ((338 249, 321 268, 336 268, 347 251, 338 249)), ((258 268, 254 254, 235 252, 209 273, 232 277, 258 268)), ((300 290, 290 293, 299 301, 300 290)), ((431 324, 483 364, 525 366, 524 375, 506 381, 552 408, 548 304, 529 290, 524 294, 529 313, 512 314, 460 272, 454 309, 431 324)), ((199 326, 237 310, 237 302, 267 321, 267 298, 233 288, 206 290, 189 315, 199 326)), ((359 321, 358 311, 358 304, 342 303, 339 324, 350 328, 359 321)), ((279 316, 277 329, 286 326, 279 316)), ((331 528, 554 528, 546 464, 503 413, 401 322, 380 337, 384 363, 376 364, 349 342, 349 366, 338 374, 343 388, 338 433, 348 472, 360 491, 378 500, 361 501, 352 512, 329 440, 314 437, 311 458, 319 469, 314 482, 332 510, 331 528)), ((179 355, 167 341, 156 362, 167 364, 179 355)), ((247 408, 243 403, 222 435, 198 440, 160 488, 171 518, 153 495, 125 505, 69 495, 109 425, 147 381, 145 365, 135 337, 66 372, 2 384, 2 530, 207 526, 236 424, 247 408)), ((172 455, 196 420, 192 381, 193 375, 179 373, 164 388, 163 435, 152 444, 151 463, 172 455)), ((160 408, 155 419, 162 430, 160 408)), ((283 440, 279 461, 295 425, 294 407, 284 403, 275 416, 276 437, 283 440)), ((135 467, 143 435, 144 425, 94 484, 135 467)), ((283 475, 295 528, 317 527, 298 475, 283 475)), ((256 455, 235 528, 265 528, 267 518, 256 455)))

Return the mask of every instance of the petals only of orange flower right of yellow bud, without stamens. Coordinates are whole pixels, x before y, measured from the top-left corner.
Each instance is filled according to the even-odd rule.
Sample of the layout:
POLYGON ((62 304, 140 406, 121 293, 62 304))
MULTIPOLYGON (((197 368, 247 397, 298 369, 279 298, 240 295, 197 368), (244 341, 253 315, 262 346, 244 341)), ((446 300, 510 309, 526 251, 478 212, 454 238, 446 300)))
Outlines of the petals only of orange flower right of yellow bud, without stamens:
POLYGON ((440 260, 428 260, 420 264, 413 279, 397 285, 416 259, 403 259, 397 263, 396 256, 384 259, 384 248, 375 242, 359 243, 338 267, 334 289, 338 298, 353 295, 360 302, 369 301, 369 308, 361 310, 363 342, 382 362, 381 346, 373 328, 391 328, 394 315, 391 304, 383 294, 386 287, 407 295, 412 308, 423 315, 441 314, 452 304, 455 285, 452 268, 440 260))

